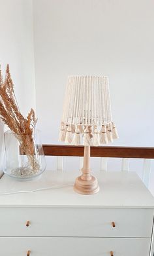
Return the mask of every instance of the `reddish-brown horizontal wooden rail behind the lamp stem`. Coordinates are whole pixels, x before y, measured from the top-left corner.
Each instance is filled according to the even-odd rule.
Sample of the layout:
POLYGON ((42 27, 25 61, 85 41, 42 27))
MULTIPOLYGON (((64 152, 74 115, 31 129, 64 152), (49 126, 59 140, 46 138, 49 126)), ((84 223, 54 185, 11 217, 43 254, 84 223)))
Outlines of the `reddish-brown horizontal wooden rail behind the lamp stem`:
MULTIPOLYGON (((46 156, 84 156, 84 146, 43 145, 46 156)), ((154 147, 91 147, 91 156, 154 158, 154 147)))

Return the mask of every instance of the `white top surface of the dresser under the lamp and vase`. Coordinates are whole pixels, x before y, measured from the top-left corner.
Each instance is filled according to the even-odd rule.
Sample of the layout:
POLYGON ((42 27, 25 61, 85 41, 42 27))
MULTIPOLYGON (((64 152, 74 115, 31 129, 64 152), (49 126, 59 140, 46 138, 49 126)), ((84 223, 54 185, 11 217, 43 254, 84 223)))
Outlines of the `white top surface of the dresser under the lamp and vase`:
POLYGON ((33 207, 98 207, 153 208, 154 197, 134 172, 94 172, 100 191, 93 195, 74 192, 73 184, 79 172, 46 171, 31 181, 16 181, 3 175, 0 179, 0 206, 33 207), (16 191, 18 194, 3 193, 16 191))

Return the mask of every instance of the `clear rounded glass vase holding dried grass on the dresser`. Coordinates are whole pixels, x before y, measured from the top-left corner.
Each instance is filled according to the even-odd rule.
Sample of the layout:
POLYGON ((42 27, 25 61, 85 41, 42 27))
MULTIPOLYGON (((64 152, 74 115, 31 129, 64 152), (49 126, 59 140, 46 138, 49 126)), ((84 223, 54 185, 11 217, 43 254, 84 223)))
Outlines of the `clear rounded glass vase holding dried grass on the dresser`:
POLYGON ((39 130, 35 130, 31 136, 13 134, 10 130, 5 132, 5 174, 25 181, 37 177, 45 169, 46 160, 39 130))

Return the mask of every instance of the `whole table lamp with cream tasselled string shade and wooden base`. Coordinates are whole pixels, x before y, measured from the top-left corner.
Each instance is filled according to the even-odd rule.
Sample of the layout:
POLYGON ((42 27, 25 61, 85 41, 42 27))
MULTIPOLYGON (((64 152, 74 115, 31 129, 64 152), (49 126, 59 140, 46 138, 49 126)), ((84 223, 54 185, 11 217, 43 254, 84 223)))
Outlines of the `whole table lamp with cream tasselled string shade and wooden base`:
POLYGON ((69 76, 59 141, 84 145, 84 166, 82 175, 76 178, 74 191, 80 194, 95 194, 99 191, 98 181, 91 175, 90 146, 108 144, 117 137, 112 122, 108 77, 69 76))

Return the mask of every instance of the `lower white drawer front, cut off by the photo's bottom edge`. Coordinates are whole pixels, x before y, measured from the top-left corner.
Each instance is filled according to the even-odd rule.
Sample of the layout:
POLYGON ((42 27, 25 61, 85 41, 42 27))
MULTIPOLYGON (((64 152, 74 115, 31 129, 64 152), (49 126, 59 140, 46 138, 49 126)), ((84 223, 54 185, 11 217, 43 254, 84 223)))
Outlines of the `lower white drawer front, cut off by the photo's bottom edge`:
POLYGON ((4 256, 149 256, 149 246, 148 238, 0 238, 4 256))

